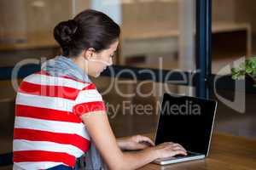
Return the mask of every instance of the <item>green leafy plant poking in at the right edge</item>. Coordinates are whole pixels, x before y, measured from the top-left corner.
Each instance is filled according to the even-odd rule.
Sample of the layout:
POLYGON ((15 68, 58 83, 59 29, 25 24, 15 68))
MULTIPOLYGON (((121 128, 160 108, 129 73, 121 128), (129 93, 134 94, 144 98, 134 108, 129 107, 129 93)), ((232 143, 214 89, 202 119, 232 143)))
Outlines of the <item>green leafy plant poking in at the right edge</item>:
POLYGON ((241 79, 245 76, 251 77, 254 81, 253 87, 256 88, 256 57, 253 56, 246 59, 238 67, 232 68, 231 73, 234 80, 241 79))

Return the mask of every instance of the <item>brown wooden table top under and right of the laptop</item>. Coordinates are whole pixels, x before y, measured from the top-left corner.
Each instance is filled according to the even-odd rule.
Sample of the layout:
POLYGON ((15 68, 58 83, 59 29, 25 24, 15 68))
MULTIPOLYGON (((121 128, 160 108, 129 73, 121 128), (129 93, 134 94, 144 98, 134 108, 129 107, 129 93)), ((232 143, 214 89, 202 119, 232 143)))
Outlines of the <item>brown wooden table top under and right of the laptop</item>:
POLYGON ((150 163, 140 170, 255 170, 256 139, 214 133, 209 156, 204 160, 160 166, 150 163))

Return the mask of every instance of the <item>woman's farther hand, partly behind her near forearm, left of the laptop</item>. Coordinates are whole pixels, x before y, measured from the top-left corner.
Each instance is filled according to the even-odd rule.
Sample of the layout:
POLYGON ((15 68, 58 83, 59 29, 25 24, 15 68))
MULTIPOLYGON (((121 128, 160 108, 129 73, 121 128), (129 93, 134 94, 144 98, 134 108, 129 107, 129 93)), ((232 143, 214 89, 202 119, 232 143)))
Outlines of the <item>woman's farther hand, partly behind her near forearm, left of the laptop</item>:
POLYGON ((119 138, 117 139, 117 143, 121 150, 143 150, 150 146, 154 146, 154 142, 143 135, 119 138))

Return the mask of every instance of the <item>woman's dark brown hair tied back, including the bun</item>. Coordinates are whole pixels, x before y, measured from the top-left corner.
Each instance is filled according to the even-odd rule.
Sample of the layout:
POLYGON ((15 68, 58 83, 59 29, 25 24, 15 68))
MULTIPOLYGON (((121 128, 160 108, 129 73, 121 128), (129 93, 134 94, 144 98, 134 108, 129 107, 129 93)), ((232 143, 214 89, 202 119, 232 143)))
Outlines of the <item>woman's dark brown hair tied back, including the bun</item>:
POLYGON ((118 40, 119 34, 119 26, 107 14, 93 9, 84 10, 73 20, 60 22, 54 29, 55 40, 67 57, 77 56, 88 48, 96 52, 107 49, 118 40))

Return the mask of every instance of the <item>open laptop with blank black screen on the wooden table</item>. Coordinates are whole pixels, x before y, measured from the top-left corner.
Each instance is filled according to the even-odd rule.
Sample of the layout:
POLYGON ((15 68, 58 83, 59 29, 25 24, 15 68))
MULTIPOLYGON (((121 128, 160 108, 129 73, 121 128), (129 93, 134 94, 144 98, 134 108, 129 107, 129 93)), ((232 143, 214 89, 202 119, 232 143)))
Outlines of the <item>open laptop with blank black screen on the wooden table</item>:
POLYGON ((166 165, 207 157, 216 108, 214 100, 164 94, 154 143, 181 144, 188 155, 157 159, 154 163, 166 165))

